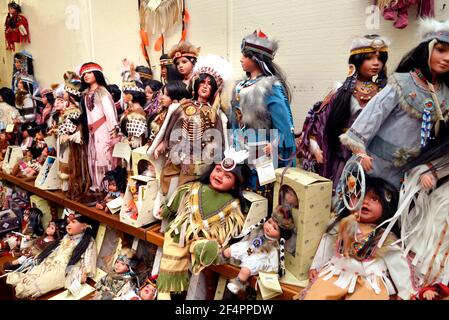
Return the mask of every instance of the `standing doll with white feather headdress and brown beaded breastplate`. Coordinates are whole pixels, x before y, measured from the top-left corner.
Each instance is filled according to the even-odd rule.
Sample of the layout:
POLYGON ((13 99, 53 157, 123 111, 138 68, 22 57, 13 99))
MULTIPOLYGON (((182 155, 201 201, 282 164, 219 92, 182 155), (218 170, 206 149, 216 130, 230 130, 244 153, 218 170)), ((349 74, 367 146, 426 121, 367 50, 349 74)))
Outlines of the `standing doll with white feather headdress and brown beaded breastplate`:
MULTIPOLYGON (((167 150, 161 173, 164 195, 174 190, 173 186, 198 180, 213 162, 223 158, 227 146, 227 117, 222 111, 220 93, 230 77, 230 69, 229 62, 221 57, 201 57, 191 79, 193 99, 182 99, 179 105, 172 103, 168 108, 163 125, 148 150, 155 159, 167 150), (175 177, 179 178, 176 185, 175 177)), ((179 85, 176 87, 179 99, 185 92, 179 85)))

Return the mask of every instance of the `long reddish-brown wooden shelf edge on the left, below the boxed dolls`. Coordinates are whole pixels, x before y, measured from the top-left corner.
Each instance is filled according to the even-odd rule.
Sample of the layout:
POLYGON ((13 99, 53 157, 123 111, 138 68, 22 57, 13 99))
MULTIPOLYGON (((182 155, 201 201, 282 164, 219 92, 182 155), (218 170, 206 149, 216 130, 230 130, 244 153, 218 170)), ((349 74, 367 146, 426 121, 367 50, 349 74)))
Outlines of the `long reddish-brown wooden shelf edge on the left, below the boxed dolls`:
POLYGON ((50 202, 59 204, 65 208, 75 210, 82 215, 85 215, 91 219, 104 223, 114 229, 120 230, 127 234, 130 234, 138 239, 146 240, 146 229, 145 228, 135 228, 126 223, 120 222, 120 217, 118 214, 112 215, 106 213, 102 210, 98 210, 95 207, 88 207, 79 202, 70 200, 61 191, 48 191, 42 190, 34 186, 34 180, 27 178, 17 178, 15 176, 6 174, 0 170, 0 178, 11 182, 12 184, 31 192, 32 194, 38 195, 50 202))

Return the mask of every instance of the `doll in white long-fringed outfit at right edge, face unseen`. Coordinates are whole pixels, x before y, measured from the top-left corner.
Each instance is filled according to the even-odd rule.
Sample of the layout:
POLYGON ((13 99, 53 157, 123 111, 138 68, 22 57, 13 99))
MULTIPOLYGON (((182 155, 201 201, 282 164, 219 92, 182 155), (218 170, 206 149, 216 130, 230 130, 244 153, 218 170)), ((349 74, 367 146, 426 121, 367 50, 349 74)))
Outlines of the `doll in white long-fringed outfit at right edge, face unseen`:
POLYGON ((448 146, 446 132, 440 144, 407 164, 399 209, 386 226, 388 230, 400 222, 400 240, 412 259, 417 299, 449 296, 448 146))

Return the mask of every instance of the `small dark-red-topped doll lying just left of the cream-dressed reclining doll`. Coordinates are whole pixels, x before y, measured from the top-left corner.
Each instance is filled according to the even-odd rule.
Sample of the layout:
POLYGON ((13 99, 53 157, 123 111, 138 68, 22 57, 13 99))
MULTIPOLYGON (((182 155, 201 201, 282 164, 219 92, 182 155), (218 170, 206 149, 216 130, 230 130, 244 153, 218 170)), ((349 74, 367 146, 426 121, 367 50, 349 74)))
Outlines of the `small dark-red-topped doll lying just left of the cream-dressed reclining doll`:
POLYGON ((22 256, 20 258, 13 260, 12 262, 5 263, 3 269, 22 269, 21 266, 26 265, 27 262, 31 262, 42 251, 44 251, 47 246, 52 244, 53 241, 59 240, 59 238, 60 232, 58 230, 58 225, 55 221, 50 221, 47 228, 45 229, 45 234, 33 240, 31 247, 22 250, 22 256))

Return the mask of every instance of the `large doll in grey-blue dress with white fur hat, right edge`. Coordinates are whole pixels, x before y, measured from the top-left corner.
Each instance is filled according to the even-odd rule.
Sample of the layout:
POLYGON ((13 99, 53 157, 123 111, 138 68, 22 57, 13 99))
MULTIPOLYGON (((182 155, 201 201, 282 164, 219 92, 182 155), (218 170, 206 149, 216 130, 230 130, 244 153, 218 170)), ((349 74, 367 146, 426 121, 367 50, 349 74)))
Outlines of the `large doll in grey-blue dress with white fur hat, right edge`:
POLYGON ((449 117, 449 20, 423 20, 421 33, 421 43, 403 58, 389 84, 340 136, 362 157, 365 171, 397 188, 401 167, 438 143, 449 117))

